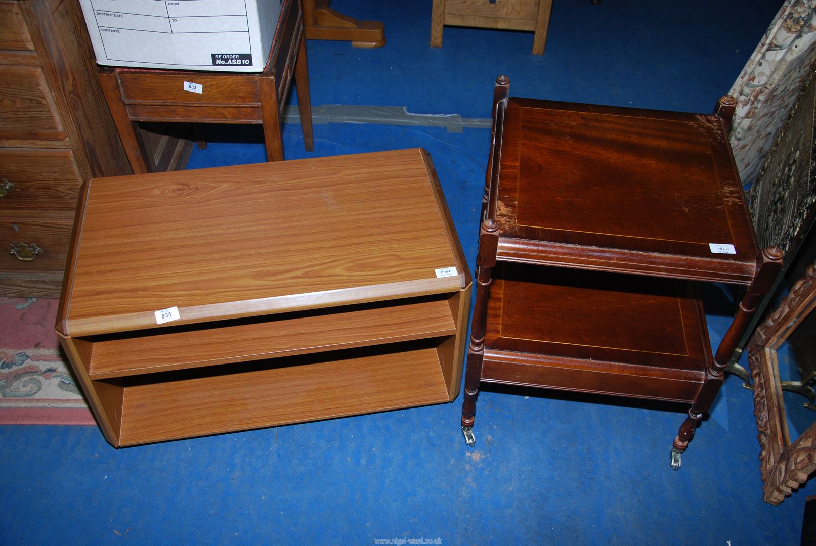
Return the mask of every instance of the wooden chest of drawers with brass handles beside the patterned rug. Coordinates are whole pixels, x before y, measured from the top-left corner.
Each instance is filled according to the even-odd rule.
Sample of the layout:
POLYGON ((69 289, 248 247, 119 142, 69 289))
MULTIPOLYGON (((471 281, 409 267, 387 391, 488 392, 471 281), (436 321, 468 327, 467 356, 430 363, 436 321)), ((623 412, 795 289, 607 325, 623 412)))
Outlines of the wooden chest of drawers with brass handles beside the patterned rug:
POLYGON ((57 297, 79 187, 129 174, 76 0, 0 2, 0 296, 57 297))

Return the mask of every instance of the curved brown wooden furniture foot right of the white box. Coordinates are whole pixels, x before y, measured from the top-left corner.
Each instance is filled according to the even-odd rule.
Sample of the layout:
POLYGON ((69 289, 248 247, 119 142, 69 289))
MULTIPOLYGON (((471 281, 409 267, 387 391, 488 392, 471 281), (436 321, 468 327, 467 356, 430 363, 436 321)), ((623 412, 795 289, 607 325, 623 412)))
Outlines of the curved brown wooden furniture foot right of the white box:
POLYGON ((385 27, 380 21, 358 21, 330 8, 331 0, 303 0, 304 26, 310 40, 342 40, 353 47, 385 45, 385 27))

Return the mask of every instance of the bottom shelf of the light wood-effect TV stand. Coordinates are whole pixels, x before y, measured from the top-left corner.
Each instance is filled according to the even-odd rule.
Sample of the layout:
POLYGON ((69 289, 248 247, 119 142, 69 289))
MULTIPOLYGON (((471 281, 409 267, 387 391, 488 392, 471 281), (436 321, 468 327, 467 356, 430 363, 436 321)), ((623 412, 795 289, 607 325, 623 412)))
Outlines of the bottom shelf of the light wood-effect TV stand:
POLYGON ((123 447, 449 402, 432 341, 94 382, 123 447))

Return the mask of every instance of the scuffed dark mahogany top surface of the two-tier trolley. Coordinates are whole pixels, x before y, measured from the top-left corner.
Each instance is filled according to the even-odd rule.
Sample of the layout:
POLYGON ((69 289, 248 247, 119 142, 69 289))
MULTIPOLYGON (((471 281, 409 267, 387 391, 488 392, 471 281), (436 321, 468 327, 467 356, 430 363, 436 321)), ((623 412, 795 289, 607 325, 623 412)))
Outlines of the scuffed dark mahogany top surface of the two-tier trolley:
POLYGON ((611 262, 674 257, 681 277, 750 280, 756 239, 719 117, 510 98, 503 119, 499 255, 520 240, 541 254, 579 245, 611 262))

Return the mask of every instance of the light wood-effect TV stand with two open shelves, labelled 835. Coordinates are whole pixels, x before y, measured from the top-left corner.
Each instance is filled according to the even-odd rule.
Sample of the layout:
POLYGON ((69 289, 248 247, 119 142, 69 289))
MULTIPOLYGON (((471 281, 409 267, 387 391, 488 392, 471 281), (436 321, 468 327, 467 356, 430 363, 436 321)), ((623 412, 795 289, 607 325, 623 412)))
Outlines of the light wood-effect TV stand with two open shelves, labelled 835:
POLYGON ((424 150, 93 179, 76 226, 57 331, 115 447, 459 394, 471 280, 424 150))

